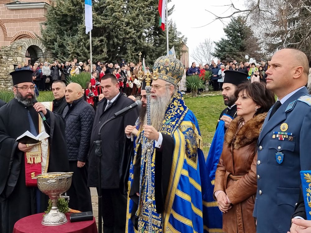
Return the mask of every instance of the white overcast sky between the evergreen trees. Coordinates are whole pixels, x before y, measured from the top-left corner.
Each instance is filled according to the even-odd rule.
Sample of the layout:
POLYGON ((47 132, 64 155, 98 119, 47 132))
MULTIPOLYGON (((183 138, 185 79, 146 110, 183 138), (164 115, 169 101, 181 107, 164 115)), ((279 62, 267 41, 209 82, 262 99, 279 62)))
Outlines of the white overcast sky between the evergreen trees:
MULTIPOLYGON (((243 8, 243 0, 234 0, 233 2, 235 7, 243 8)), ((206 10, 209 10, 216 15, 227 16, 232 13, 232 10, 229 9, 228 6, 224 5, 229 4, 231 4, 230 0, 172 0, 168 4, 169 8, 175 5, 174 12, 169 16, 169 20, 172 19, 175 21, 178 30, 188 38, 187 46, 189 48, 190 64, 193 60, 191 58, 191 53, 200 42, 204 41, 206 38, 210 38, 212 41, 218 41, 221 37, 224 36, 224 24, 219 20, 212 22, 215 19, 215 16, 206 10), (185 2, 187 2, 187 4, 185 4, 185 2), (204 26, 208 23, 210 24, 204 26)), ((226 24, 229 21, 229 19, 226 19, 224 23, 226 24)))

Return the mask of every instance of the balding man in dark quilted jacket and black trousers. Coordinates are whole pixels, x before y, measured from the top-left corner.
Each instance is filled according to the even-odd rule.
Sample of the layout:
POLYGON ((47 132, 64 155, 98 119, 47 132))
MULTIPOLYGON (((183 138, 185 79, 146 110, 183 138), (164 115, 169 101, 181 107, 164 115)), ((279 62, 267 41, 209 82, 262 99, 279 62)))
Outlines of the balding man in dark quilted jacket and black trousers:
POLYGON ((70 83, 65 88, 67 106, 63 111, 66 121, 66 141, 69 169, 73 172, 72 184, 67 194, 69 208, 81 212, 92 211, 91 193, 87 187, 87 154, 95 111, 83 99, 82 87, 70 83))

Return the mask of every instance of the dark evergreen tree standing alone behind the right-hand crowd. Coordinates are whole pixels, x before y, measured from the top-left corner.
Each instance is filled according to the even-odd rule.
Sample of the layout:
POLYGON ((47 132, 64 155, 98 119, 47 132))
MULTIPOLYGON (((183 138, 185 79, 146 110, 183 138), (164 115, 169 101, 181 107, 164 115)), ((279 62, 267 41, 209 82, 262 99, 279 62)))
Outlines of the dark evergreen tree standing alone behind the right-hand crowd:
POLYGON ((220 60, 244 59, 246 53, 254 57, 253 54, 259 50, 257 39, 242 17, 231 19, 224 32, 225 38, 215 42, 213 53, 220 60))

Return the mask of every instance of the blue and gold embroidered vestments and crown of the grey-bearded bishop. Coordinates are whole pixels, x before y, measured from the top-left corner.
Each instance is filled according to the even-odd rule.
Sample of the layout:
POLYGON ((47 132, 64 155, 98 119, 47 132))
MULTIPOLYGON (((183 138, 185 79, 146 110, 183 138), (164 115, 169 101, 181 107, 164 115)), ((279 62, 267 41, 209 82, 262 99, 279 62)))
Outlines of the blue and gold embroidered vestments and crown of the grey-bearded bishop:
MULTIPOLYGON (((156 60, 153 71, 159 79, 178 85, 184 66, 174 57, 163 56, 156 60)), ((135 137, 134 159, 129 176, 127 230, 134 232, 137 223, 138 232, 146 233, 149 214, 148 161, 144 145, 147 139, 141 136, 141 127, 139 131, 141 133, 135 137), (139 197, 135 193, 137 190, 139 197)), ((153 147, 151 161, 152 231, 203 232, 202 196, 206 174, 202 138, 197 119, 185 105, 179 91, 171 98, 159 132, 163 137, 162 145, 160 149, 153 147)))

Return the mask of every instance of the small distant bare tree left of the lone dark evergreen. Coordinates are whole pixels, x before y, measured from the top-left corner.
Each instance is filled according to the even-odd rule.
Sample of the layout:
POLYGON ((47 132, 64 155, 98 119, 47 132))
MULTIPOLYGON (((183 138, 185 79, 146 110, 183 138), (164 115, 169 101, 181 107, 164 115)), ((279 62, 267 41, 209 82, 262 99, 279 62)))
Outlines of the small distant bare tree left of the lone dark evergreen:
POLYGON ((191 54, 193 61, 201 63, 203 66, 211 64, 211 61, 215 58, 212 53, 214 52, 214 43, 211 39, 205 39, 203 42, 194 49, 191 54))

